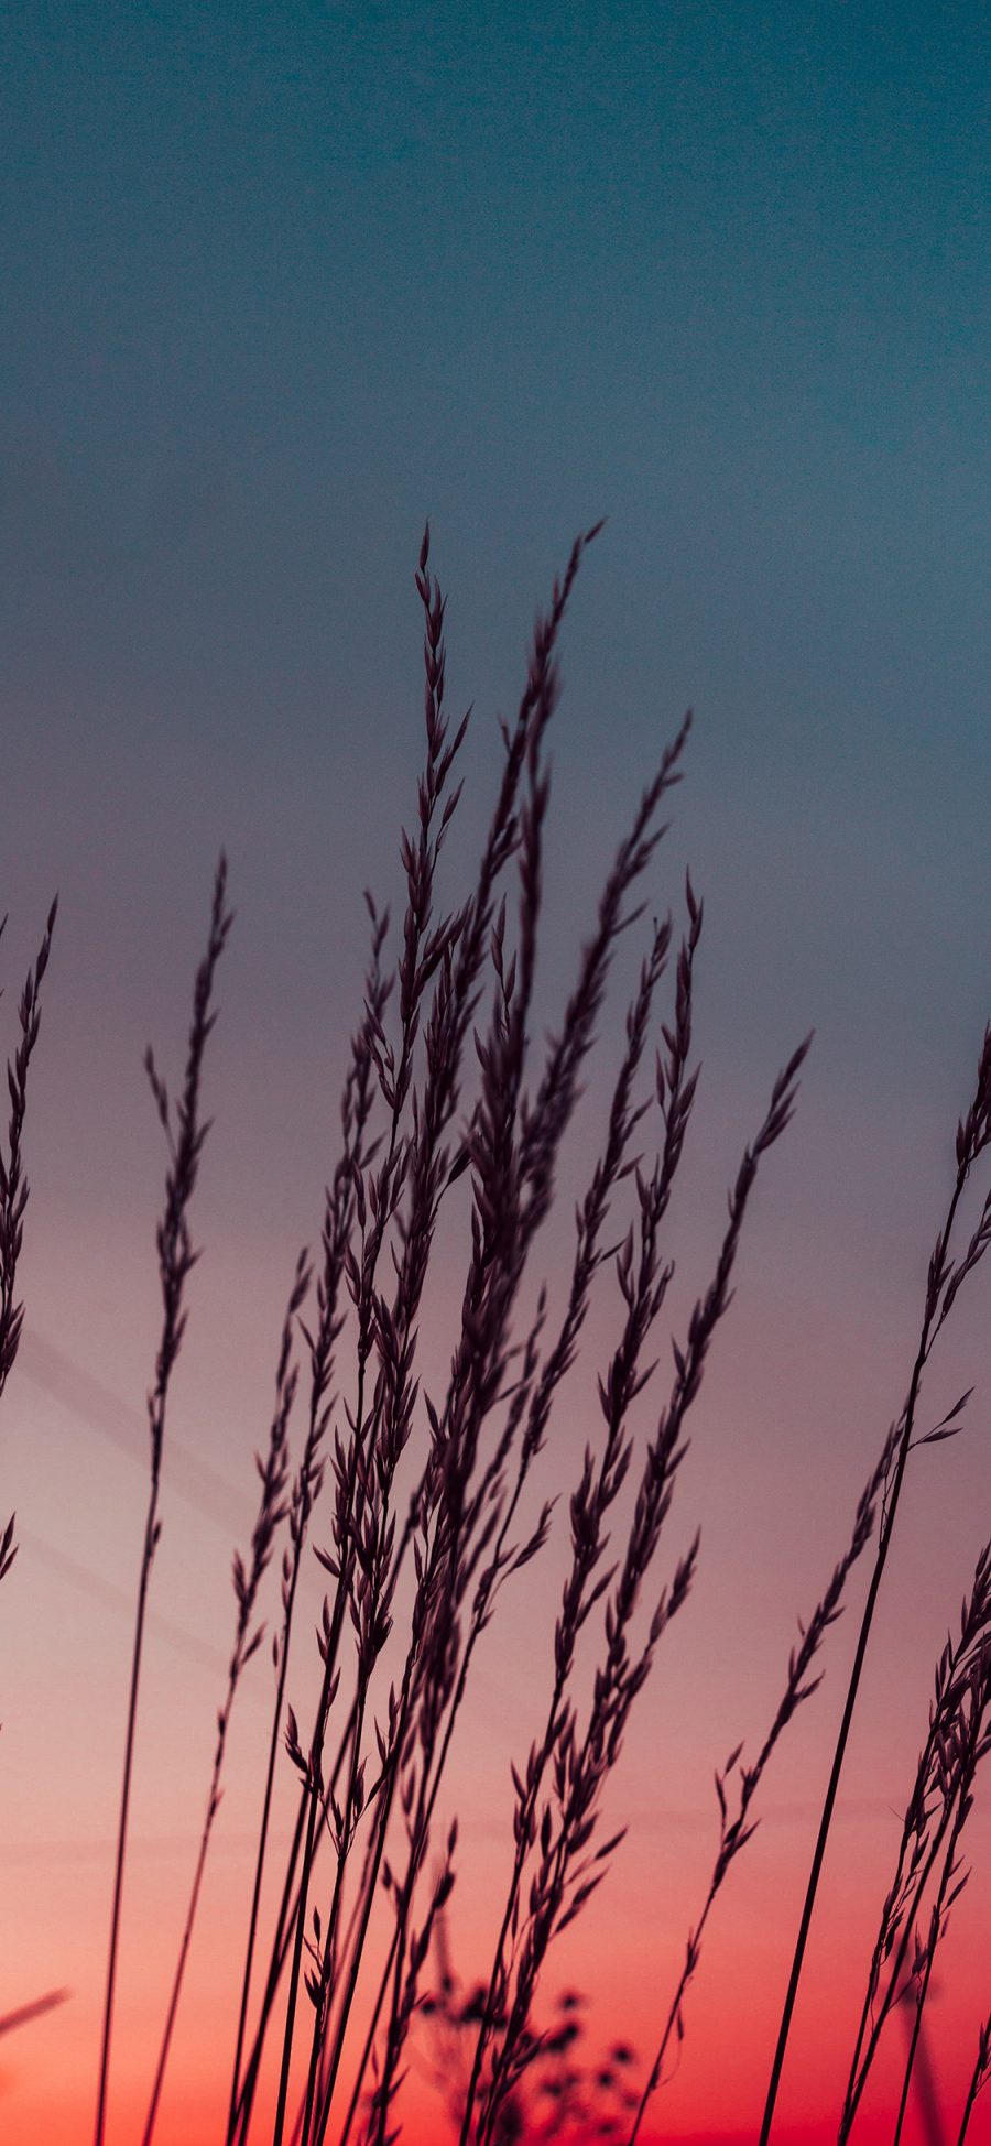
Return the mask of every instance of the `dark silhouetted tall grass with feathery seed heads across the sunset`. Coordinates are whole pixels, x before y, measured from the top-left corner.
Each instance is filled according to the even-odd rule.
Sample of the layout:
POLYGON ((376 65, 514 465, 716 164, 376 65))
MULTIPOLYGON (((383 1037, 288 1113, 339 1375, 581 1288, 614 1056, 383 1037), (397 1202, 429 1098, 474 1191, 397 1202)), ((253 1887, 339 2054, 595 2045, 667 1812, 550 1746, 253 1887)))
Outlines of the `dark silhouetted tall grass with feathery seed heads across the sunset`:
MULTIPOLYGON (((598 534, 573 545, 551 603, 538 618, 515 721, 504 725, 498 796, 474 878, 440 906, 440 856, 457 813, 468 717, 446 708, 446 605, 429 569, 425 532, 416 592, 425 624, 425 760, 414 828, 401 833, 403 916, 395 940, 371 897, 371 951, 363 1006, 341 1097, 341 1148, 322 1215, 320 1255, 300 1253, 281 1320, 275 1406, 257 1457, 260 1500, 247 1554, 234 1556, 234 1633, 204 1820, 178 1959, 163 2000, 163 2032, 142 2146, 150 2146, 197 1904, 221 1798, 232 1708, 262 1648, 262 1594, 279 1575, 270 1642, 275 1706, 257 1788, 257 1843, 245 1871, 242 1923, 232 1931, 232 2041, 223 2054, 227 2146, 390 2146, 403 2131, 403 2079, 414 2039, 433 2032, 457 2047, 446 2092, 459 2146, 508 2146, 549 2135, 536 2116, 541 2079, 558 2129, 596 2120, 635 2146, 671 2054, 686 2032, 689 1989, 704 1934, 757 1824, 757 1794, 779 1743, 817 1682, 830 1627, 852 1575, 873 1545, 854 1667, 811 1876, 783 1994, 776 2049, 768 2052, 761 2146, 770 2137, 787 2058, 794 2004, 826 1843, 858 1702, 875 1610, 912 1453, 955 1436, 967 1395, 931 1431, 918 1429, 922 1378, 952 1307, 991 1243, 991 1191, 959 1243, 967 1182, 991 1144, 991 1030, 978 1056, 972 1101, 957 1129, 955 1178, 929 1262, 905 1403, 879 1440, 849 1539, 792 1648, 781 1700, 753 1760, 742 1745, 716 1766, 719 1841, 684 1964, 659 2009, 656 2049, 633 2086, 631 2052, 601 2071, 598 2118, 588 2082, 571 2064, 579 2032, 571 2013, 547 2017, 547 1974, 560 1936, 607 1880, 622 1833, 607 1833, 609 1788, 622 1764, 631 1713, 669 1625, 686 1603, 699 1537, 678 1517, 697 1397, 731 1311, 734 1279, 757 1176, 787 1131, 811 1039, 770 1079, 768 1103, 729 1185, 729 1215, 676 1331, 671 1369, 663 1348, 674 1275, 671 1195, 699 1107, 693 1056, 704 903, 691 880, 684 912, 644 925, 665 835, 661 811, 682 779, 689 719, 659 758, 620 835, 613 865, 558 1030, 538 1049, 536 953, 543 934, 543 850, 551 803, 547 738, 560 693, 558 644, 581 558, 598 534), (620 938, 639 925, 644 953, 613 1064, 603 1144, 586 1167, 575 1212, 571 1273, 560 1318, 534 1277, 541 1232, 556 1208, 562 1152, 598 1041, 620 938), (667 1011, 659 1004, 667 994, 667 1011), (656 1039, 656 1041, 654 1041, 656 1039), (468 1251, 450 1315, 450 1369, 442 1391, 423 1384, 420 1315, 450 1210, 468 1210, 468 1251), (562 1382, 581 1371, 581 1341, 603 1273, 618 1285, 611 1346, 592 1384, 598 1438, 566 1485, 566 1511, 532 1504, 536 1459, 562 1382), (307 1307, 315 1275, 313 1307, 307 1307), (302 1427, 294 1459, 294 1416, 302 1427), (648 1416, 644 1436, 641 1423, 648 1416), (631 1504, 622 1491, 628 1485, 631 1504), (618 1528, 618 1515, 628 1519, 618 1528), (506 1873, 491 1910, 491 1955, 470 2002, 455 2000, 448 1901, 457 1886, 459 1831, 438 1837, 438 1803, 463 1721, 478 1652, 515 1575, 566 1530, 560 1607, 543 1650, 534 1640, 536 1704, 530 1749, 513 1766, 506 1873), (618 1532, 616 1532, 618 1530, 618 1532), (307 1721, 290 1704, 298 1655, 298 1590, 307 1545, 326 1575, 317 1622, 320 1689, 307 1721), (279 1768, 296 1781, 296 1822, 285 1861, 272 1869, 272 1805, 279 1768), (266 1923, 266 1899, 277 1901, 266 1923), (429 2026, 431 2024, 431 2026, 429 2026), (277 2073, 275 2116, 260 2118, 264 2062, 277 2073), (558 2067, 558 2069, 553 2069, 558 2067), (571 2069, 568 2069, 571 2067, 571 2069), (579 2090, 581 2086, 581 2090, 579 2090)), ((26 1185, 21 1129, 28 1060, 36 1041, 36 987, 54 912, 21 1000, 21 1043, 9 1073, 11 1131, 0 1163, 0 1388, 19 1333, 15 1266, 26 1185)), ((204 1161, 202 1116, 215 979, 232 914, 221 858, 206 953, 193 989, 184 1079, 172 1105, 148 1054, 148 1079, 167 1142, 165 1200, 157 1228, 161 1341, 148 1395, 150 1481, 139 1552, 127 1736, 112 1873, 109 1951, 99 2049, 94 2146, 103 2146, 112 2088, 114 1994, 124 1916, 127 1839, 139 1734, 142 1650, 159 1498, 167 1468, 167 1401, 187 1326, 197 1253, 191 1204, 204 1161)), ((457 1236, 457 1232, 455 1232, 457 1236)), ((0 1575, 13 1556, 13 1524, 0 1534, 0 1575)), ((961 1637, 940 1657, 929 1734, 909 1790, 894 1876, 879 1906, 860 2028, 837 2129, 847 2140, 884 2028, 909 1991, 912 2032, 901 2082, 897 2140, 937 1946, 965 1880, 961 1837, 976 1775, 991 1749, 991 1545, 963 1605, 961 1637)), ((723 1738, 719 1738, 723 1747, 723 1738)), ((577 2004, 577 2000, 575 2000, 577 2004)), ((987 2084, 989 2026, 978 2028, 959 2137, 987 2084)))

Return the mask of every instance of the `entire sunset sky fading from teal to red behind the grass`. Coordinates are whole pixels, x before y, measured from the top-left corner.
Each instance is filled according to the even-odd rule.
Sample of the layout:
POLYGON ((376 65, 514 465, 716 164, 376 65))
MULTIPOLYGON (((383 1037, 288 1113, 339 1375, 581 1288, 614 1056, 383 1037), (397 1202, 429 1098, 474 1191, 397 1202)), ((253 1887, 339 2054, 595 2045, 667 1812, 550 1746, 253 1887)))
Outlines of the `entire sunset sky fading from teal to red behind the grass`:
MULTIPOLYGON (((230 1556, 251 1528, 294 1258, 317 1240, 337 1159, 363 886, 401 908, 427 517, 448 704, 474 704, 444 850, 455 901, 534 612, 575 532, 607 515, 562 637, 534 1052, 639 790, 695 710, 648 886, 648 916, 674 906, 680 921, 691 863, 706 899, 676 1331, 770 1082, 815 1026, 659 1552, 669 1577, 701 1526, 691 1601, 609 1788, 628 1839, 547 1968, 547 2004, 566 1985, 588 1994, 590 2047, 622 2034, 648 2060, 712 1863, 712 1768, 740 1736, 759 1749, 796 1618, 901 1408, 991 1015, 987 17, 918 0, 28 0, 2 34, 6 1049, 56 888, 60 918, 26 1129, 26 1333, 0 1419, 0 1524, 17 1509, 21 1545, 0 1592, 0 2015, 71 1991, 0 2045, 4 2140, 92 2127, 159 1320, 165 1155, 142 1054, 154 1043, 178 1077, 225 846, 236 925, 167 1431, 114 2146, 139 2137, 230 1648, 230 1556)), ((560 1217, 534 1253, 551 1298, 641 951, 637 934, 622 944, 560 1217)), ((461 1251, 455 1232, 425 1365, 450 1354, 461 1251)), ((907 1476, 783 2146, 830 2135, 933 1663, 989 1534, 985 1279, 925 1386, 935 1423, 976 1384, 970 1429, 907 1476)), ((506 1592, 453 1753, 465 1981, 491 1953, 508 1764, 545 1704, 566 1500, 618 1303, 603 1279, 534 1491, 560 1494, 556 1528, 506 1592)), ((659 1380, 667 1339, 661 1358, 659 1380)), ((856 1605, 864 1586, 860 1571, 856 1605)), ((320 1594, 309 1560, 311 1618, 320 1594)), ((659 2137, 727 2146, 759 2125, 856 1614, 768 1770, 659 2137)), ((232 1732, 161 2146, 217 2135, 268 1706, 262 1659, 232 1732)), ((933 1989, 952 2135, 991 2004, 987 1792, 970 1854, 933 1989)), ((425 2043, 410 2135, 440 2146, 427 2071, 425 2043)), ((882 2073, 864 2140, 871 2122, 890 2135, 897 2062, 882 2073)))

